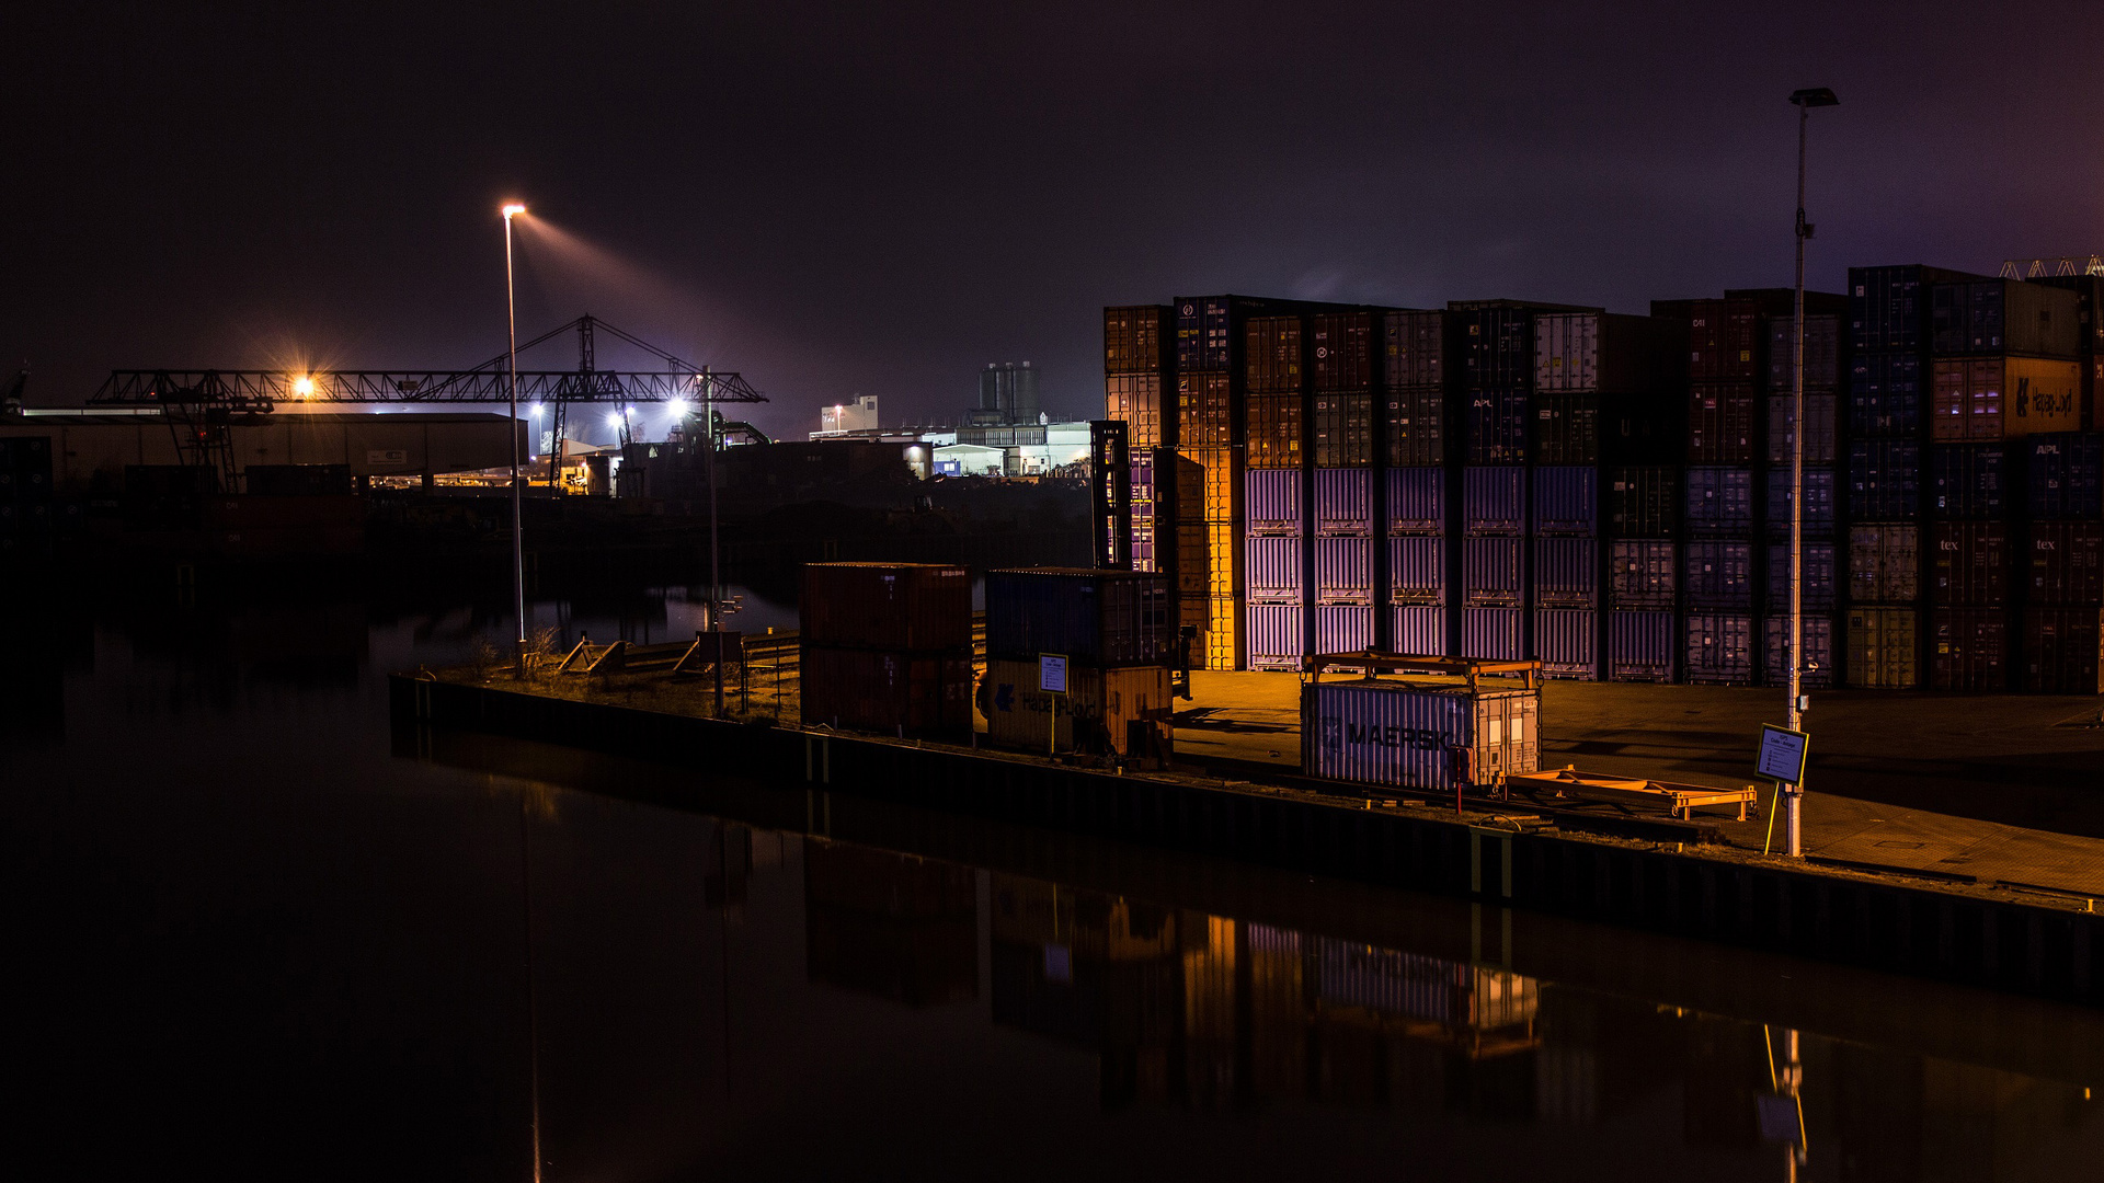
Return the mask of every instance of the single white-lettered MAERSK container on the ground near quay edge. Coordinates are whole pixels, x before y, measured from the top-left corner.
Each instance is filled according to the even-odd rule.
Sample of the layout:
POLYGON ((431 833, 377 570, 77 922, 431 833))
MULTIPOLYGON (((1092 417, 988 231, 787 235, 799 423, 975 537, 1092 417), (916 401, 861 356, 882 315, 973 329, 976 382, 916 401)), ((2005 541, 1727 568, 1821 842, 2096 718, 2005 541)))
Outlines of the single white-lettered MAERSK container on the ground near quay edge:
POLYGON ((1309 682, 1300 688, 1300 770, 1399 789, 1492 785, 1536 770, 1540 718, 1538 688, 1309 682))

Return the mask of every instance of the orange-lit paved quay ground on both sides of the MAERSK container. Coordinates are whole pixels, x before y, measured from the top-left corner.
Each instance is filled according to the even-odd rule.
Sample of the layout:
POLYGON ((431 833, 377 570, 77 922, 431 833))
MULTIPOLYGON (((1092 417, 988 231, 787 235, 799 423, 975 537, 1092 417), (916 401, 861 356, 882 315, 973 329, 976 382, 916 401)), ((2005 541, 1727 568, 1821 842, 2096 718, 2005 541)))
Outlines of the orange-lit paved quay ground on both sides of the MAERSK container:
MULTIPOLYGON (((1298 768, 1296 676, 1195 671, 1191 688, 1176 716, 1180 756, 1298 768)), ((1782 722, 1780 690, 1549 682, 1540 762, 1753 783, 1755 817, 1704 821, 1759 850, 1772 785, 1751 773, 1763 722, 1782 722)), ((1809 855, 2104 901, 2104 701, 1835 690, 1814 693, 1805 730, 1809 855)))

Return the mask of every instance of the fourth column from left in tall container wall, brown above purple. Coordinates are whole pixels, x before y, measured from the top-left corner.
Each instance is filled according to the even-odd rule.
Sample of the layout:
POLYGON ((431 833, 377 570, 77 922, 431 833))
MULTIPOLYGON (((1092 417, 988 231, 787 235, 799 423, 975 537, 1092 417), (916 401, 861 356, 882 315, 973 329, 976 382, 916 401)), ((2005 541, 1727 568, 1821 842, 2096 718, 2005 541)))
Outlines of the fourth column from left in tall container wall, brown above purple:
POLYGON ((1313 394, 1313 650, 1374 646, 1374 381, 1382 314, 1319 312, 1309 318, 1313 394))

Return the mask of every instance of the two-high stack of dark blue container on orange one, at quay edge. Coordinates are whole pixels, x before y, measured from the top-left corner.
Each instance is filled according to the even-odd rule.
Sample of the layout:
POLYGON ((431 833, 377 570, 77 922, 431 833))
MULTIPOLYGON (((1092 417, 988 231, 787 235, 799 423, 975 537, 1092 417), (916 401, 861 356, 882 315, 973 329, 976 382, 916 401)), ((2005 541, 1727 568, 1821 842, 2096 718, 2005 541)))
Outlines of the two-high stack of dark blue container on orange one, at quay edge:
POLYGON ((1142 570, 1037 566, 987 573, 989 741, 1046 751, 1132 754, 1170 709, 1176 640, 1168 579, 1142 570), (1067 688, 1046 690, 1039 661, 1065 659, 1067 688))

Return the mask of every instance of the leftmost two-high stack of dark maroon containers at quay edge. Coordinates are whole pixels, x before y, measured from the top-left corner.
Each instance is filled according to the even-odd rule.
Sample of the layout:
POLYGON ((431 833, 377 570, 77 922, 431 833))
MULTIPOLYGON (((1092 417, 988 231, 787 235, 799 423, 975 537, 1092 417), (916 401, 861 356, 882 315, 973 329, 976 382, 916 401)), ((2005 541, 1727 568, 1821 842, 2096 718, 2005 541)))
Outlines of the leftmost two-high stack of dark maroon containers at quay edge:
POLYGON ((970 575, 924 562, 806 564, 800 667, 806 724, 970 733, 970 575))

